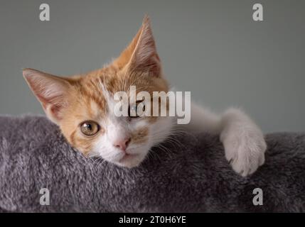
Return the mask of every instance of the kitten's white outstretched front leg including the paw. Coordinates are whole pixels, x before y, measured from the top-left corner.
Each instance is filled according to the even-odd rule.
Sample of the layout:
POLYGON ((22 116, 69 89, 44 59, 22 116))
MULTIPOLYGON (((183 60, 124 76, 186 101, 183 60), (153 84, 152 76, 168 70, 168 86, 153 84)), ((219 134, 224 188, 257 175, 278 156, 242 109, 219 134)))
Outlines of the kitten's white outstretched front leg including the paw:
MULTIPOLYGON (((182 125, 181 125, 182 126, 182 125)), ((267 145, 259 127, 240 109, 228 109, 222 115, 191 104, 191 122, 187 131, 220 134, 225 157, 242 176, 252 174, 264 163, 267 145)))

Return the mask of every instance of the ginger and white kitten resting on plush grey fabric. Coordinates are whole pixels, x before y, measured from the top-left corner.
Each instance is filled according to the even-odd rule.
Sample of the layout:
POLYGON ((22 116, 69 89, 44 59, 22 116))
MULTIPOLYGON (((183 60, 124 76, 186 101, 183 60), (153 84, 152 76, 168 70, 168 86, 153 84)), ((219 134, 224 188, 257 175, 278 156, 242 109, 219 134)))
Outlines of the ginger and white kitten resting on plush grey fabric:
MULTIPOLYGON (((25 69, 23 76, 48 118, 84 155, 98 155, 122 167, 136 167, 151 147, 175 131, 171 117, 116 117, 112 112, 114 93, 127 91, 131 85, 137 86, 137 92, 150 94, 169 90, 149 18, 144 18, 139 32, 121 55, 100 70, 57 77, 25 69)), ((239 109, 216 115, 192 104, 191 122, 183 128, 218 133, 225 157, 242 176, 250 175, 264 163, 264 136, 239 109)))

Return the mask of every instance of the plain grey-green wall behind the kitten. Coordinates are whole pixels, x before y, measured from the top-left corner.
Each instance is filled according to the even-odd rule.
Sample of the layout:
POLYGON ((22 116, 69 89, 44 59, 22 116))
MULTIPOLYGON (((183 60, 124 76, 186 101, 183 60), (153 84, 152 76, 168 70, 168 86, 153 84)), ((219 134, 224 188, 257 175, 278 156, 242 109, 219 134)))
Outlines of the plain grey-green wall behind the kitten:
POLYGON ((264 132, 305 131, 305 1, 0 1, 0 114, 43 113, 23 67, 94 70, 151 17, 166 77, 223 111, 242 106, 264 132), (39 6, 50 5, 41 22, 39 6), (252 6, 264 6, 264 21, 252 6))

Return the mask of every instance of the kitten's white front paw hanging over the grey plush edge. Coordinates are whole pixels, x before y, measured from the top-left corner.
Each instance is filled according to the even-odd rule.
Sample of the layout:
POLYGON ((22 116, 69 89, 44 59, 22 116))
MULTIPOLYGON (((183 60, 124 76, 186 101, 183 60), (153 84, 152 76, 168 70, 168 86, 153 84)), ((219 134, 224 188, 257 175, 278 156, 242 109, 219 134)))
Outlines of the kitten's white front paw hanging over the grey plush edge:
POLYGON ((246 177, 264 164, 267 145, 258 128, 230 128, 220 135, 225 147, 225 157, 233 170, 246 177))

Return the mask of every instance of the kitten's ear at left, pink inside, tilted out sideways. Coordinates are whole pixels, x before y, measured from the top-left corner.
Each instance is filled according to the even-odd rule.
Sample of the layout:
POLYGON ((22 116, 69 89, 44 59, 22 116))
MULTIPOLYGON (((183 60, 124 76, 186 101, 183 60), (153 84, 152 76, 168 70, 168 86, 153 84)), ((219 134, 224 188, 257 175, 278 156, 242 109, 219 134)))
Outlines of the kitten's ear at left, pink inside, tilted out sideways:
POLYGON ((62 77, 32 69, 23 70, 23 77, 41 102, 48 118, 58 123, 63 108, 68 104, 69 82, 62 77))

